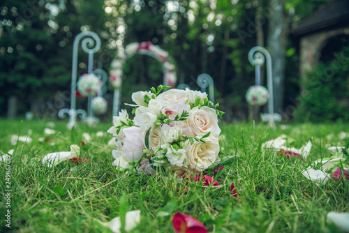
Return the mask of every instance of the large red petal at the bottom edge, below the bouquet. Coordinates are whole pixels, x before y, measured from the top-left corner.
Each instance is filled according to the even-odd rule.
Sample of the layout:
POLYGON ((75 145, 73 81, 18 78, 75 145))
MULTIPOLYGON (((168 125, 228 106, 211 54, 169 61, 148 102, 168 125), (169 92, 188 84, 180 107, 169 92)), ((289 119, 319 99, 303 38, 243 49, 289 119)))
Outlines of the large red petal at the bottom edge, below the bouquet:
POLYGON ((174 213, 172 227, 176 233, 207 233, 205 225, 199 220, 184 213, 174 213))

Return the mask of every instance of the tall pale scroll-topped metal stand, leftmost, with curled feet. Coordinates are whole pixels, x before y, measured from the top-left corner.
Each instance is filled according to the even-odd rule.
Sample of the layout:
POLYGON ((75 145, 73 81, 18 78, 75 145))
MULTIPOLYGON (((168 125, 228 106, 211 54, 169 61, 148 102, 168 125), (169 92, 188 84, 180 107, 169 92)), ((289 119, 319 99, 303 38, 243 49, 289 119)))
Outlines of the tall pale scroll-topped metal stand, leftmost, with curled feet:
MULTIPOLYGON (((58 116, 64 118, 69 115, 68 128, 71 129, 76 124, 77 114, 82 115, 82 119, 86 118, 87 114, 84 110, 75 110, 76 106, 76 81, 77 81, 77 53, 80 40, 84 38, 81 42, 81 47, 84 52, 89 54, 89 73, 92 71, 92 61, 94 59, 94 53, 96 53, 101 48, 101 39, 99 36, 92 31, 84 31, 79 33, 74 40, 73 45, 73 68, 71 70, 71 93, 70 93, 70 110, 61 109, 59 110, 58 116), (87 38, 84 38, 87 37, 87 38)), ((80 117, 81 118, 81 117, 80 117)))

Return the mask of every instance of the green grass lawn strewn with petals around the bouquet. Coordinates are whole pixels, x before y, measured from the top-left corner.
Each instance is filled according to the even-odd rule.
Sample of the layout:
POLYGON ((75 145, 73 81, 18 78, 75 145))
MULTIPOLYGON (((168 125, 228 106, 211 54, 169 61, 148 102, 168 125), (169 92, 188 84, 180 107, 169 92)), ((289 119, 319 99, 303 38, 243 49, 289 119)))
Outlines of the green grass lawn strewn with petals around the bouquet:
MULTIPOLYGON (((0 120, 1 151, 15 149, 11 169, 14 232, 111 232, 98 221, 136 209, 142 211, 142 217, 132 232, 174 232, 170 216, 176 212, 198 218, 209 232, 341 232, 326 222, 326 215, 329 211, 349 211, 349 181, 331 179, 325 186, 317 186, 300 173, 313 160, 329 156, 326 144, 348 146, 348 140, 339 140, 338 135, 349 133, 349 124, 294 124, 285 130, 252 123, 221 125, 226 138, 221 151, 228 156, 238 154, 239 159, 215 176, 219 188, 202 188, 163 172, 147 176, 117 170, 112 166, 114 146, 107 146, 112 135, 96 137, 96 132, 106 132, 111 123, 95 128, 79 124, 70 132, 66 121, 57 121, 55 129, 61 133, 50 136, 48 142, 38 142, 39 137, 45 137, 46 123, 0 120), (33 131, 31 144, 10 145, 10 135, 28 135, 28 130, 33 131), (91 159, 91 163, 78 165, 75 172, 70 172, 74 165, 68 161, 51 168, 30 165, 31 158, 69 151, 70 144, 84 141, 85 132, 92 140, 81 146, 80 157, 91 159), (262 142, 281 134, 294 138, 292 146, 296 148, 311 140, 311 156, 300 160, 273 151, 263 155, 262 142), (334 136, 329 139, 329 134, 334 136), (230 195, 232 182, 240 200, 230 195), (189 186, 188 192, 181 191, 184 186, 189 186), (120 202, 123 195, 126 204, 120 202), (164 210, 170 216, 157 217, 164 210)), ((3 164, 0 167, 3 197, 7 188, 3 164)), ((2 217, 6 211, 3 198, 0 211, 0 232, 4 232, 8 229, 2 217)))

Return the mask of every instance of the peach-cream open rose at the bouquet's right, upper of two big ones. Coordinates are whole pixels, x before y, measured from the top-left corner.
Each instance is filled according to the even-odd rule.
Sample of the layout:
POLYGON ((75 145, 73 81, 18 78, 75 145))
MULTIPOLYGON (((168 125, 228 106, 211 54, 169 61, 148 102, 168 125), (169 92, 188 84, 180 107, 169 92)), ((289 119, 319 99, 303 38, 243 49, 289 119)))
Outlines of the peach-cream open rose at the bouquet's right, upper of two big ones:
POLYGON ((187 119, 188 125, 195 135, 205 135, 211 132, 211 135, 218 137, 221 129, 218 127, 218 119, 216 111, 209 107, 193 107, 189 112, 187 119))

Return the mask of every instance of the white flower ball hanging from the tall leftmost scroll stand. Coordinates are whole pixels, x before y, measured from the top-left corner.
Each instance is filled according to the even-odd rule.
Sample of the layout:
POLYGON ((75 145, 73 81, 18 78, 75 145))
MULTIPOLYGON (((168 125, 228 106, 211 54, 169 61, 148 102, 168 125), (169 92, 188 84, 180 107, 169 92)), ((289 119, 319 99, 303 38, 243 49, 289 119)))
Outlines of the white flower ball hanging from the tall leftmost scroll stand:
POLYGON ((84 74, 77 82, 77 91, 81 96, 96 96, 102 89, 102 82, 94 74, 84 74))

